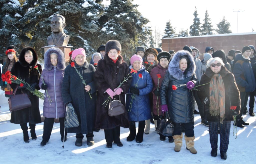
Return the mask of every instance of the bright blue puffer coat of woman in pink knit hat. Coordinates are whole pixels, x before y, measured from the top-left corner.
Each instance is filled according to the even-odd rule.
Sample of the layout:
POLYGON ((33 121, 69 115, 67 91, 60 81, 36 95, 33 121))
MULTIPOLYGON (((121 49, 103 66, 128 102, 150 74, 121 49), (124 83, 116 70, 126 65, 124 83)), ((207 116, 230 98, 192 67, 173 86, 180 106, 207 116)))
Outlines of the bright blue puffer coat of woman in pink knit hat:
MULTIPOLYGON (((131 104, 130 110, 129 105, 131 103, 132 93, 128 92, 126 94, 126 110, 128 111, 129 121, 144 121, 151 118, 150 114, 150 103, 148 94, 153 89, 153 82, 150 77, 148 71, 145 70, 145 67, 142 66, 142 69, 138 71, 138 73, 134 73, 132 75, 131 86, 135 87, 138 81, 138 88, 140 90, 140 94, 136 95, 131 104), (142 78, 139 79, 139 74, 142 74, 142 78), (139 80, 138 80, 139 79, 139 80)), ((130 89, 129 89, 130 91, 130 89)))

